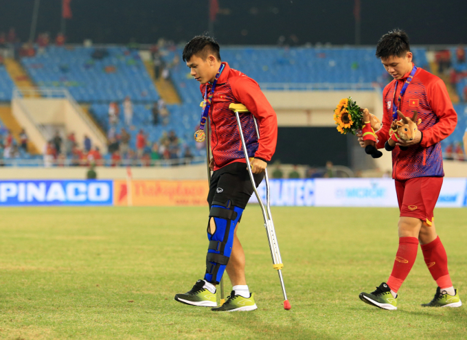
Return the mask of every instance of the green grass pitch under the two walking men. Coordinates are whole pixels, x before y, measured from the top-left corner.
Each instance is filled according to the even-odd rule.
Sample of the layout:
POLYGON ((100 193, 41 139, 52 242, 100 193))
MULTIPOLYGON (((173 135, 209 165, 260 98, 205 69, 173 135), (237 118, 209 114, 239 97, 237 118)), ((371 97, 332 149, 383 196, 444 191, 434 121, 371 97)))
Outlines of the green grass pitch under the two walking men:
MULTIPOLYGON (((422 252, 398 310, 358 299, 387 280, 397 209, 273 207, 282 292, 258 206, 238 235, 258 310, 213 313, 173 300, 203 276, 207 209, 3 208, 1 339, 465 339, 461 308, 429 309, 436 284, 422 252)), ((436 209, 451 277, 467 302, 467 209, 436 209)), ((226 292, 231 286, 227 275, 226 292)))

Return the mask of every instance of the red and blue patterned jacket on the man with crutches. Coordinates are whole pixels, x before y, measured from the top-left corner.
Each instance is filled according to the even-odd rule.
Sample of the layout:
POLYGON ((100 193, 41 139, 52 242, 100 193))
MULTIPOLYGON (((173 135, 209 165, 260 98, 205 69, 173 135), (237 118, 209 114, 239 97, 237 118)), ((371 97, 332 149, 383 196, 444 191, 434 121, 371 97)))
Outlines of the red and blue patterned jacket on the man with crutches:
MULTIPOLYGON (((231 103, 244 104, 250 111, 250 113, 240 113, 240 122, 249 157, 271 161, 277 143, 277 117, 275 112, 255 80, 236 69, 231 69, 229 64, 223 64, 225 64, 225 67, 220 74, 216 89, 214 89, 212 105, 209 109, 214 170, 218 170, 230 163, 246 162, 236 115, 229 110, 231 103), (259 141, 251 113, 258 122, 259 141)), ((200 86, 202 95, 205 93, 206 86, 208 93, 211 90, 211 84, 202 84, 200 86)))

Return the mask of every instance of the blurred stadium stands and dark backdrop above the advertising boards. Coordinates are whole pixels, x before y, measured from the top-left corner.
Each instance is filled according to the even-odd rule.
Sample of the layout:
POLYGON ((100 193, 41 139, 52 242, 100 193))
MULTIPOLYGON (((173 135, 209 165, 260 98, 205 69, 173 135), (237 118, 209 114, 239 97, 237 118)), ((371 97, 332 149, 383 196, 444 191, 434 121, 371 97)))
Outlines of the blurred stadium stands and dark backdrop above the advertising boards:
POLYGON ((351 95, 381 117, 391 79, 374 46, 401 22, 415 63, 451 95, 459 120, 442 141, 445 171, 464 177, 466 22, 457 16, 465 3, 429 1, 437 10, 422 13, 429 4, 411 1, 396 20, 374 3, 334 2, 3 5, 0 178, 205 179, 205 145, 192 137, 202 98, 181 61, 184 44, 203 32, 218 39, 223 60, 260 83, 277 112, 274 178, 390 177, 389 152, 365 155, 354 136, 335 131, 332 111, 351 95))

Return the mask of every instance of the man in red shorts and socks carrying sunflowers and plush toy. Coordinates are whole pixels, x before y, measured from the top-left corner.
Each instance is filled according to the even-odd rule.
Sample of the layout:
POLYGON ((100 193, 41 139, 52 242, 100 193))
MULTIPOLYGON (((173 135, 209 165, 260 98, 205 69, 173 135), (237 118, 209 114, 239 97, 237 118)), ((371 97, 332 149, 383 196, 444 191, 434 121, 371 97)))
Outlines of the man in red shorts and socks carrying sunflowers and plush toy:
POLYGON ((444 177, 440 141, 453 133, 457 114, 444 82, 412 63, 404 31, 383 35, 376 57, 394 78, 383 91, 383 128, 376 135, 377 147, 392 151, 392 178, 400 209, 399 247, 387 282, 359 297, 372 306, 397 309, 398 290, 415 262, 420 242, 426 267, 438 286, 433 300, 422 306, 459 307, 462 302, 451 282, 448 258, 433 219, 444 177), (391 122, 400 120, 398 110, 408 118, 416 111, 422 122, 412 140, 399 139, 393 149, 387 140, 391 122))

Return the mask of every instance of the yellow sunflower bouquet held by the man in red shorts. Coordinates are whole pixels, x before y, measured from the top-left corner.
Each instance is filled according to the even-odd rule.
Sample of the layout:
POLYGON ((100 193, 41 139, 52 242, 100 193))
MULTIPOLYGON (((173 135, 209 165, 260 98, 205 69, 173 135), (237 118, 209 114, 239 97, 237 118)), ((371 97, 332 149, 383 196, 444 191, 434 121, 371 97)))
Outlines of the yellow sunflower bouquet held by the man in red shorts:
POLYGON ((352 133, 362 129, 363 113, 352 97, 343 98, 334 110, 334 121, 340 133, 352 133))

